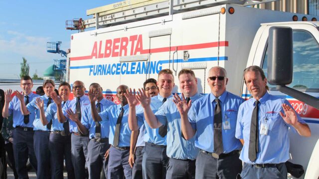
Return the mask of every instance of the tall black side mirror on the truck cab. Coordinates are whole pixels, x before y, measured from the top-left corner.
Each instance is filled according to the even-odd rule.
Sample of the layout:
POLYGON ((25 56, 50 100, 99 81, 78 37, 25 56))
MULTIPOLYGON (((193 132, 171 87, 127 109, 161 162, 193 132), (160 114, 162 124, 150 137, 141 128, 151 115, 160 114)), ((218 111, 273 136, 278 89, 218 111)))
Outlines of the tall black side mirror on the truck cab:
POLYGON ((293 30, 270 27, 268 38, 268 83, 288 85, 293 82, 293 30))

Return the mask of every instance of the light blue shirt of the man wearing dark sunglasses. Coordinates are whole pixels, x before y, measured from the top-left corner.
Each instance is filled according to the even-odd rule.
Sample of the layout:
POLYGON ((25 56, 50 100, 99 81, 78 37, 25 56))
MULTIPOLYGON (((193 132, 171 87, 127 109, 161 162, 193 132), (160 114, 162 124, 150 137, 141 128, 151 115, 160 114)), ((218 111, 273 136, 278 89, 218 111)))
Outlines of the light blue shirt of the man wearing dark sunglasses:
MULTIPOLYGON (((219 97, 222 121, 228 118, 230 129, 222 127, 223 153, 227 154, 234 150, 240 150, 242 144, 235 138, 237 112, 239 105, 244 99, 228 91, 223 92, 219 97)), ((192 127, 197 130, 195 147, 207 152, 214 152, 214 112, 216 97, 209 93, 194 101, 188 111, 188 118, 192 127)))

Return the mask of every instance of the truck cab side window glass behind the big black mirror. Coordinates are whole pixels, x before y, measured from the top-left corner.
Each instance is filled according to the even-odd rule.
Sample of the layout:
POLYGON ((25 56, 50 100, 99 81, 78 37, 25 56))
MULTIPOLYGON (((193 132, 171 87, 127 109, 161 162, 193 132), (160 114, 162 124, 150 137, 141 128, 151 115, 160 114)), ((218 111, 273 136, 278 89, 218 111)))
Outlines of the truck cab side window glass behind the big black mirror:
MULTIPOLYGON (((307 31, 293 31, 294 74, 290 88, 302 91, 319 91, 319 44, 307 31)), ((263 62, 263 71, 267 77, 268 48, 263 62)), ((270 90, 275 86, 268 84, 270 90)))

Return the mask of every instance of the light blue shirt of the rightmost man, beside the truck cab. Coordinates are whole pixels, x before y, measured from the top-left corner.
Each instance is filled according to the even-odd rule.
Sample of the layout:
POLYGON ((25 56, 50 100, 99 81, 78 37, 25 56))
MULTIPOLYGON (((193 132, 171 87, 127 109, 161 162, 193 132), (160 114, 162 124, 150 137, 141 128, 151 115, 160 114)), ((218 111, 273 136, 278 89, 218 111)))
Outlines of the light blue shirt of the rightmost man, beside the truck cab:
MULTIPOLYGON (((259 133, 258 153, 256 161, 251 162, 248 158, 249 149, 249 136, 250 136, 250 123, 252 112, 255 107, 255 98, 250 98, 245 101, 238 110, 237 127, 236 127, 236 138, 244 139, 244 147, 240 154, 239 159, 248 164, 279 164, 286 162, 289 159, 289 135, 288 125, 284 119, 280 116, 279 112, 282 109, 282 104, 290 103, 283 98, 274 96, 266 92, 259 100, 258 110, 258 126, 267 121, 269 124, 269 130, 267 135, 259 133)), ((291 105, 290 105, 291 106, 291 105)), ((298 113, 298 121, 305 123, 301 119, 298 113)), ((291 129, 296 132, 294 127, 291 129)))

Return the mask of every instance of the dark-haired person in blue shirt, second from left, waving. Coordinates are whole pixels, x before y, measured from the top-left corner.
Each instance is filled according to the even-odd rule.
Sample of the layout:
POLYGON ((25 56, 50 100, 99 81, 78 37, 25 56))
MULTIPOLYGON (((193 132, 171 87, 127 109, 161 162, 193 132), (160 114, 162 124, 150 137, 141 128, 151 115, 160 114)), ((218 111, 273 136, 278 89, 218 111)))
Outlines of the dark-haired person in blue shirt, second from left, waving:
MULTIPOLYGON (((37 179, 48 179, 50 176, 54 178, 54 171, 51 172, 50 164, 52 164, 50 150, 49 150, 49 138, 52 123, 49 125, 43 125, 40 120, 40 110, 44 115, 44 112, 49 104, 53 102, 51 98, 51 92, 54 92, 54 82, 52 80, 45 80, 43 82, 44 95, 34 98, 30 103, 25 105, 23 103, 23 95, 17 94, 20 100, 21 112, 23 115, 28 115, 35 112, 35 119, 33 121, 34 126, 34 152, 37 160, 37 179), (42 108, 39 108, 38 102, 42 101, 42 108)), ((52 165, 53 166, 53 165, 52 165)))

